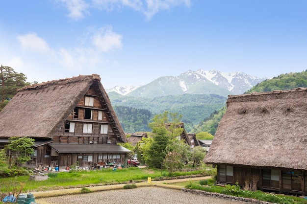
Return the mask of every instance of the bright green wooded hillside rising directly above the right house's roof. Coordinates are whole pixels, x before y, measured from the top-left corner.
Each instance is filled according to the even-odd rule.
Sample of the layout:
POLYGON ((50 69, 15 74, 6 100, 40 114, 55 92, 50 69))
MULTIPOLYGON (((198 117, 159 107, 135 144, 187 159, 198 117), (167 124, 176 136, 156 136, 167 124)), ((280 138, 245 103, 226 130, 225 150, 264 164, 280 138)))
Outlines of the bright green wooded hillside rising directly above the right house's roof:
POLYGON ((246 91, 245 93, 288 90, 299 87, 307 87, 307 70, 302 72, 281 74, 273 79, 268 79, 257 84, 255 87, 249 91, 246 91))

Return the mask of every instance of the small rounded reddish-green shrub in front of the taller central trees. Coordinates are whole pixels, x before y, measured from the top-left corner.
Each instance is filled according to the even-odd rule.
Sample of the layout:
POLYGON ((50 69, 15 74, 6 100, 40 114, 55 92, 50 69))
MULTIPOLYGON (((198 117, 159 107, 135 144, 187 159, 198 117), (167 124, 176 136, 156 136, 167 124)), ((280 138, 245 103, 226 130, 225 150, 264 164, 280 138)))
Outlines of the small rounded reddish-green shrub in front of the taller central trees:
POLYGON ((177 152, 177 150, 168 152, 164 159, 165 168, 171 173, 181 169, 183 167, 181 158, 182 156, 179 152, 177 152))

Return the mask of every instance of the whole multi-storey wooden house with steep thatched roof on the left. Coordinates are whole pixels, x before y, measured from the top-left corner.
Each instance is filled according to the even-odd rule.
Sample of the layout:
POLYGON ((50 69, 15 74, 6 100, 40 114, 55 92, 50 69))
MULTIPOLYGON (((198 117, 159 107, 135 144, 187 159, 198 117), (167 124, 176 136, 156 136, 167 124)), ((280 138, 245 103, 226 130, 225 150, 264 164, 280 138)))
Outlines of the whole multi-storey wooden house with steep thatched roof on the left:
POLYGON ((127 138, 97 74, 22 88, 0 121, 1 148, 11 136, 35 139, 29 167, 125 165, 131 152, 117 144, 127 138))

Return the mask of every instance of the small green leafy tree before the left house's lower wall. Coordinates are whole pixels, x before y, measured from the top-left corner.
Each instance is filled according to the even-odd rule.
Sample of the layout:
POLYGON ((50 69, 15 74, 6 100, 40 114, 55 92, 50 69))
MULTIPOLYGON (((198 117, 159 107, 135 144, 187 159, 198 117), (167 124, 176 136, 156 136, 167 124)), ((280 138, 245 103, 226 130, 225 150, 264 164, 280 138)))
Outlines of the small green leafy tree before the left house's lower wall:
POLYGON ((34 145, 34 141, 30 137, 10 137, 8 144, 4 145, 4 150, 9 156, 9 165, 16 164, 19 167, 31 160, 31 154, 34 153, 34 149, 31 146, 34 145))

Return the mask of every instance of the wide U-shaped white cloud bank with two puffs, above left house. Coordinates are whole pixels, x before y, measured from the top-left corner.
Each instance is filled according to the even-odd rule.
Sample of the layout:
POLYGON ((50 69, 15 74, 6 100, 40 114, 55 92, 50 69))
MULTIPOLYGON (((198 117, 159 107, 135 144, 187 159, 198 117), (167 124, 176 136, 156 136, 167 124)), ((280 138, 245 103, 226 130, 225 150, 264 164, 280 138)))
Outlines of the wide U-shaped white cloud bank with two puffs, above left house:
MULTIPOLYGON (((34 54, 39 53, 39 59, 45 57, 45 62, 62 67, 66 70, 87 70, 101 66, 107 62, 104 54, 120 49, 122 36, 113 32, 112 27, 91 29, 82 39, 82 45, 75 47, 49 47, 47 42, 38 37, 35 33, 19 35, 17 39, 23 50, 31 50, 34 54)), ((31 56, 34 56, 31 53, 31 56)), ((27 52, 24 52, 27 55, 27 52)), ((18 65, 18 58, 12 59, 10 65, 18 65)), ((22 61, 20 60, 20 63, 22 61)))

